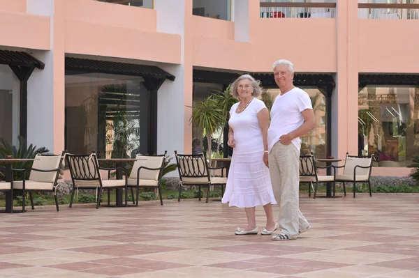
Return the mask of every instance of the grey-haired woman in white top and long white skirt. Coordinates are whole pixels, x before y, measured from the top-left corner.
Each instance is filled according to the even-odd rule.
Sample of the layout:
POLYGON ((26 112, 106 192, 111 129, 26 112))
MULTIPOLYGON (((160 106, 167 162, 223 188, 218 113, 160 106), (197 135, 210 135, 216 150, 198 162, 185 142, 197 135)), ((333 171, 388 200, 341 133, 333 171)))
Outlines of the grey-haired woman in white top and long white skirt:
POLYGON ((226 192, 222 202, 244 208, 247 228, 237 228, 236 235, 258 233, 255 208, 263 206, 266 226, 262 235, 270 235, 278 229, 274 221, 272 205, 276 204, 269 169, 267 168, 267 129, 269 111, 257 97, 262 93, 259 82, 251 75, 242 75, 231 86, 232 94, 240 102, 230 109, 228 146, 233 148, 226 192))

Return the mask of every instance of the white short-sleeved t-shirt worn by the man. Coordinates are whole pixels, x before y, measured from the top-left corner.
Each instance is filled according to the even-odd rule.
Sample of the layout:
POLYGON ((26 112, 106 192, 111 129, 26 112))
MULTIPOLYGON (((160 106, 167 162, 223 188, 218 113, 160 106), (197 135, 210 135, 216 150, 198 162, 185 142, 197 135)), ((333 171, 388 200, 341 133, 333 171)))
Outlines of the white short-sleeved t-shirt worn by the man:
MULTIPOLYGON (((275 98, 271 109, 271 123, 267 130, 268 150, 272 149, 279 137, 300 128, 304 123, 301 112, 305 109, 313 109, 309 94, 300 88, 293 88, 291 91, 278 95, 275 98)), ((300 150, 300 137, 294 138, 292 143, 300 150)))

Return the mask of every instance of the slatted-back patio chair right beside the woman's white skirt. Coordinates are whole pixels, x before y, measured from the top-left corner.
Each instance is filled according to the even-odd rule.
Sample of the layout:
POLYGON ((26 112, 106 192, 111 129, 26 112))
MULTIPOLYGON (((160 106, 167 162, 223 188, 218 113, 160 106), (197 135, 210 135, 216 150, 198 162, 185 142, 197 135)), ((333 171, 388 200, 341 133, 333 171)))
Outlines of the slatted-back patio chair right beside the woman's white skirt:
POLYGON ((175 156, 180 178, 179 198, 177 201, 180 201, 182 187, 187 185, 198 185, 199 201, 201 199, 201 186, 207 186, 207 200, 205 203, 208 203, 210 198, 210 187, 212 185, 221 185, 221 190, 224 191, 224 186, 227 184, 227 177, 224 176, 224 169, 227 169, 226 166, 208 167, 208 162, 203 153, 198 155, 179 155, 175 150, 175 156), (221 169, 221 177, 210 177, 210 170, 219 169, 221 169))

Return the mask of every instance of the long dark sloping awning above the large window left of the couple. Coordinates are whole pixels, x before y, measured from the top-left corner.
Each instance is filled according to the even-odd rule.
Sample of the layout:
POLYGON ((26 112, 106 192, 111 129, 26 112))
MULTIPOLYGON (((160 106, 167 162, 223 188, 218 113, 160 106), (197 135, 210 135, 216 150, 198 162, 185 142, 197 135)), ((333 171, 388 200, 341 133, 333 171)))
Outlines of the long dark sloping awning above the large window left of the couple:
POLYGON ((155 65, 137 65, 133 63, 118 63, 66 57, 66 72, 97 72, 113 75, 131 75, 156 79, 175 80, 175 75, 162 70, 155 65))

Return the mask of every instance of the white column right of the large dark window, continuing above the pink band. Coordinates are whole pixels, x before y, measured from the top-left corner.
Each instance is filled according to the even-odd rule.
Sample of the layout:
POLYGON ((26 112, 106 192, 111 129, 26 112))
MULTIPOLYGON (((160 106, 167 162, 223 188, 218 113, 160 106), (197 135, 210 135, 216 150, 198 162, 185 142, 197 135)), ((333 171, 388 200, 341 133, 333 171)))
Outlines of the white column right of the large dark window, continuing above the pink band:
MULTIPOLYGON (((185 70, 184 31, 185 1, 154 0, 157 11, 157 31, 182 36, 182 64, 159 65, 175 75, 175 81, 166 80, 159 88, 157 100, 157 153, 174 150, 184 153, 185 130, 185 70)), ((192 13, 192 10, 191 10, 192 13)))

